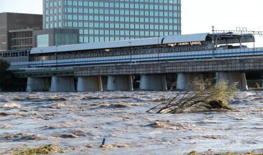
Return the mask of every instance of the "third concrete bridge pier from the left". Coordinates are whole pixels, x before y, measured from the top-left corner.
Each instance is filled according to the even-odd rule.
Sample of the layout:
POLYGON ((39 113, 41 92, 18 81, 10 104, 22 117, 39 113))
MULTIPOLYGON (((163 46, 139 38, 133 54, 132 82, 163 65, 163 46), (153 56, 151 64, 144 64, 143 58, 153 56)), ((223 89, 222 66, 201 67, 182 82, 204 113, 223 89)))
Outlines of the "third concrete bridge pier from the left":
POLYGON ((101 76, 79 76, 77 78, 77 91, 103 91, 101 76))

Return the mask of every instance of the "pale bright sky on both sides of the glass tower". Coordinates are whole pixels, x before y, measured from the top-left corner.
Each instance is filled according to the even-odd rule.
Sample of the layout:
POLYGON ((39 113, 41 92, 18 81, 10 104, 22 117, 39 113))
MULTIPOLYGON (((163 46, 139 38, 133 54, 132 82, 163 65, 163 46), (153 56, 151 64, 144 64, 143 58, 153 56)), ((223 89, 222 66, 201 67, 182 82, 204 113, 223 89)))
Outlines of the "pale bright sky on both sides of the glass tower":
MULTIPOLYGON (((181 5, 182 34, 211 32, 212 25, 263 31, 263 0, 181 0, 181 5)), ((42 14, 42 0, 0 0, 0 12, 42 14)), ((263 47, 263 36, 255 39, 255 46, 263 47)))

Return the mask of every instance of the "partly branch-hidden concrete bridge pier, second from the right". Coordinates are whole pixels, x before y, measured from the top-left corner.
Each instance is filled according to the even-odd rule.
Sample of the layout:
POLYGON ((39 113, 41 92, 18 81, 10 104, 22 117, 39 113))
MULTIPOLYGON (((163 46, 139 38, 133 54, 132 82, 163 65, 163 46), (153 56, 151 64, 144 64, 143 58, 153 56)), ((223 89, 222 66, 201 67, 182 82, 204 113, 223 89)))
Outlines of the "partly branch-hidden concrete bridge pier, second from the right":
POLYGON ((192 80, 194 80, 195 78, 199 80, 203 80, 203 75, 199 73, 178 73, 176 89, 179 89, 179 90, 185 89, 187 84, 191 82, 192 80))

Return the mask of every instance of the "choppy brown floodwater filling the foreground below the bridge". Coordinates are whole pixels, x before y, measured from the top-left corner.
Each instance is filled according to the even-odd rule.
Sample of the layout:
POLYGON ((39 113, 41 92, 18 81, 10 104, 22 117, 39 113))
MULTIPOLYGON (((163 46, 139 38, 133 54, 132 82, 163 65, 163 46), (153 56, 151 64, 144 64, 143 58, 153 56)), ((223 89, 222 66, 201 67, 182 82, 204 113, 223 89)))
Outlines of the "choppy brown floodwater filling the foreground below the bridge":
MULTIPOLYGON (((176 93, 170 92, 169 98, 176 93)), ((238 109, 231 112, 145 112, 167 94, 0 93, 0 154, 25 144, 57 144, 67 148, 61 155, 262 151, 263 92, 239 92, 230 104, 238 109), (115 148, 99 148, 103 138, 115 148)))

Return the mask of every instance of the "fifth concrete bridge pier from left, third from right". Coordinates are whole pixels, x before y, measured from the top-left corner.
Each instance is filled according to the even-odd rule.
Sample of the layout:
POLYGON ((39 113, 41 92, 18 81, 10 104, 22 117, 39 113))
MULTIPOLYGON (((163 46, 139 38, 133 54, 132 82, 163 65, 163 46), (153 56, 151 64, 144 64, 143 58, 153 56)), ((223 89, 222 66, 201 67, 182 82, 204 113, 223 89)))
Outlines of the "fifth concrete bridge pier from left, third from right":
POLYGON ((167 90, 166 77, 161 74, 141 75, 139 89, 153 91, 167 90))

